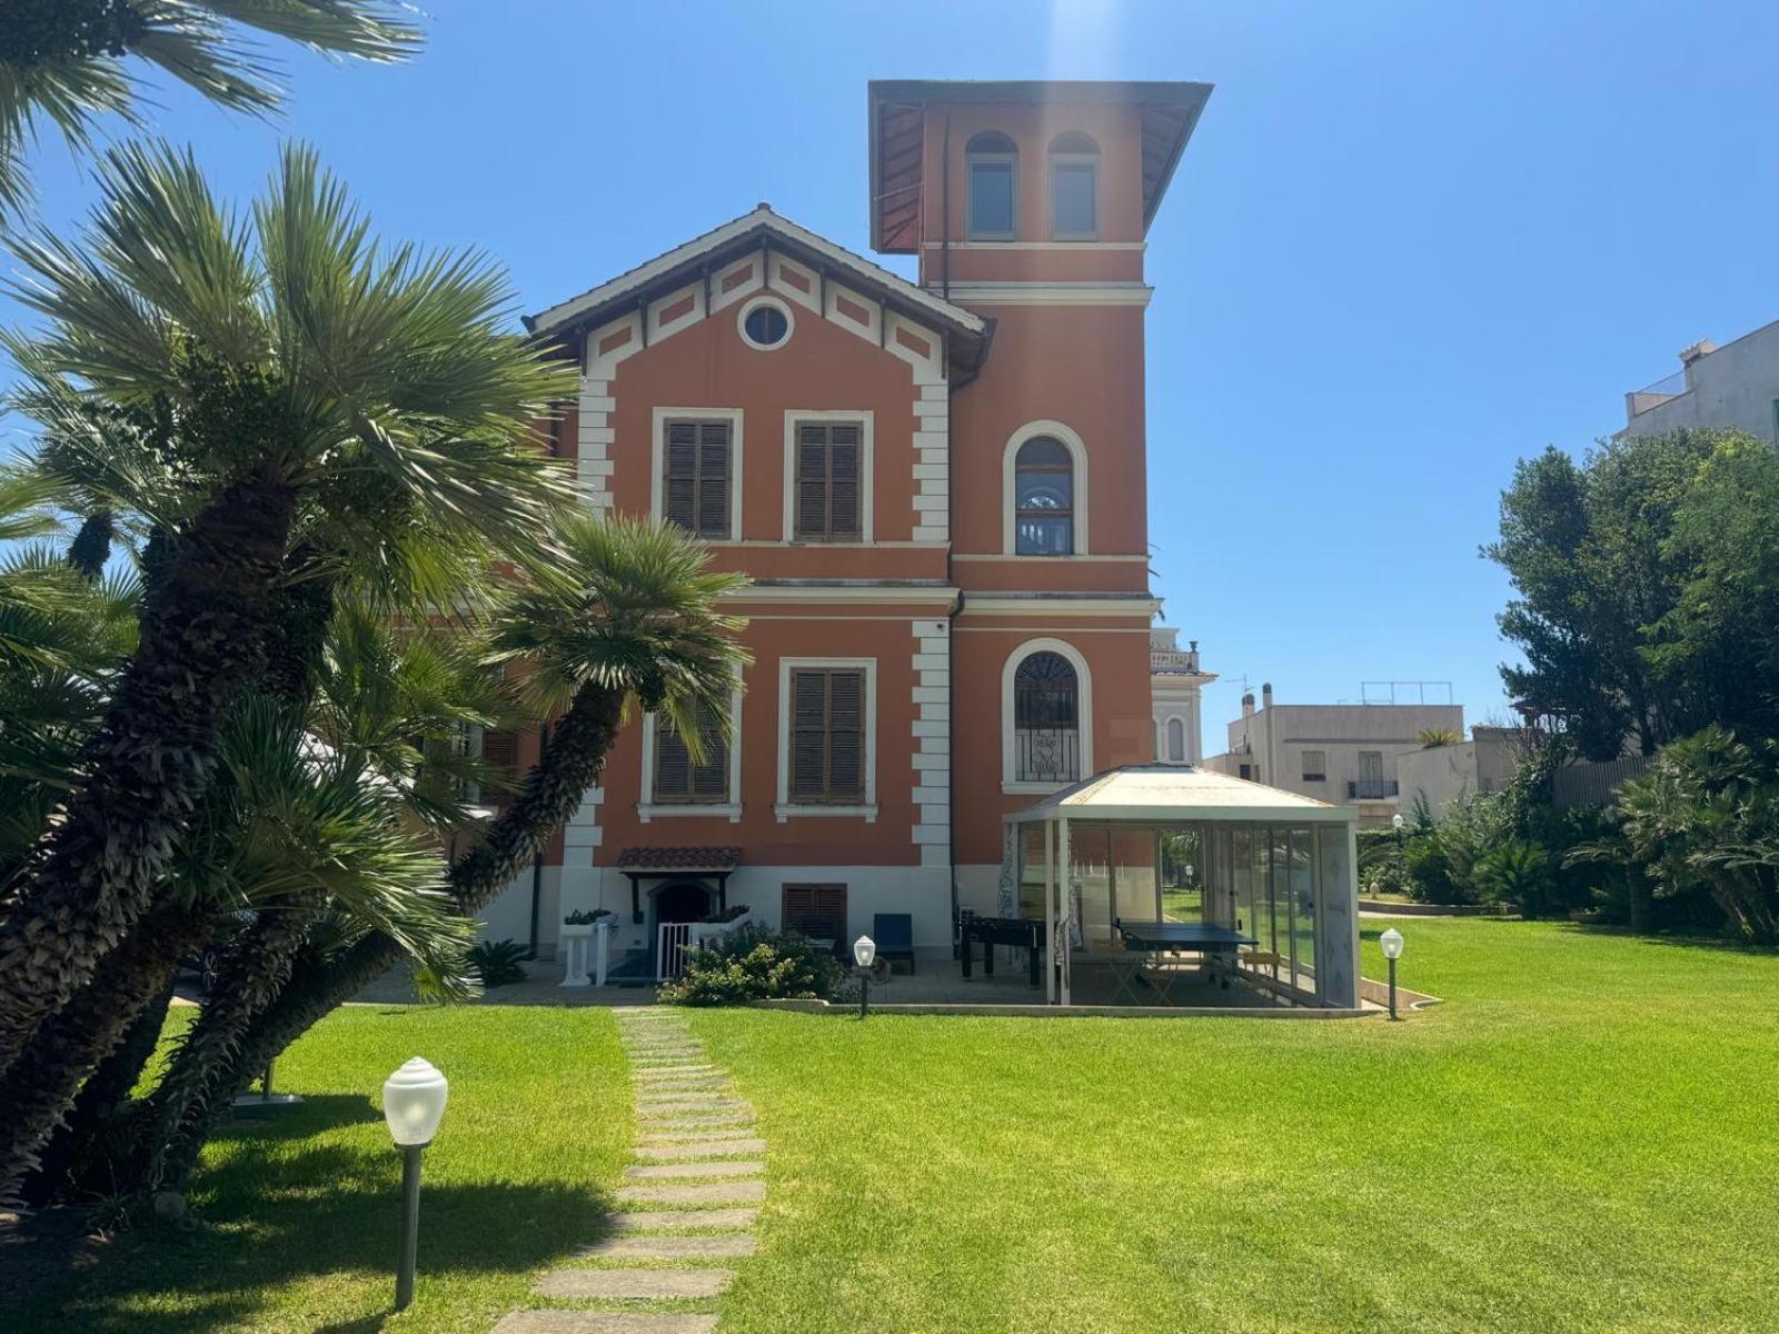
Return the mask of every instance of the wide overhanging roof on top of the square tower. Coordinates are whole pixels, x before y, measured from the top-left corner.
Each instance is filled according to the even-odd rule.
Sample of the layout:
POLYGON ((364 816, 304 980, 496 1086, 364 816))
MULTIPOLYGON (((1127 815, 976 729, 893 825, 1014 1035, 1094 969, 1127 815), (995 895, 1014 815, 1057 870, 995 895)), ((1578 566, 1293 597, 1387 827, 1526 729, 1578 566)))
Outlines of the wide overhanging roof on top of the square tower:
POLYGON ((920 245, 920 173, 927 103, 1053 101, 1140 108, 1142 226, 1147 229, 1210 94, 1210 84, 1185 82, 873 80, 870 85, 872 249, 911 254, 920 245))

